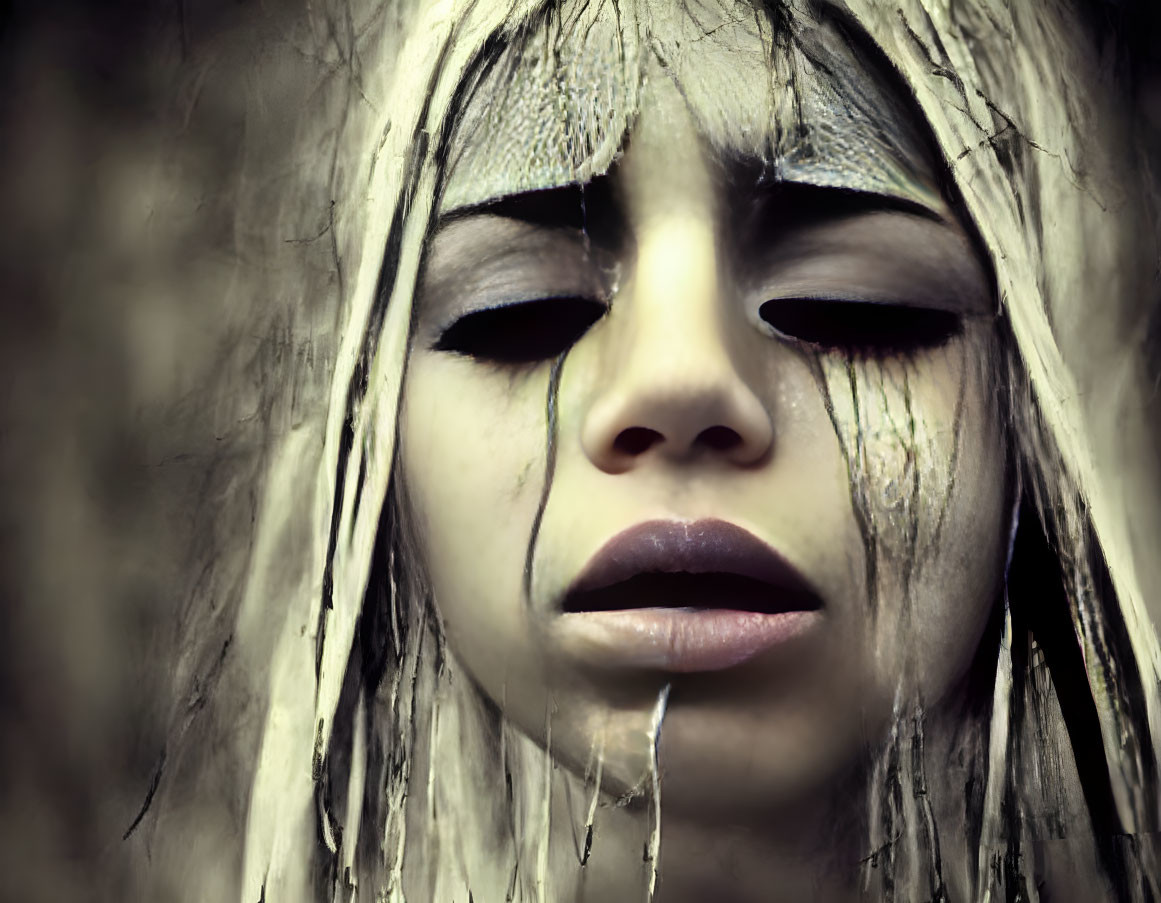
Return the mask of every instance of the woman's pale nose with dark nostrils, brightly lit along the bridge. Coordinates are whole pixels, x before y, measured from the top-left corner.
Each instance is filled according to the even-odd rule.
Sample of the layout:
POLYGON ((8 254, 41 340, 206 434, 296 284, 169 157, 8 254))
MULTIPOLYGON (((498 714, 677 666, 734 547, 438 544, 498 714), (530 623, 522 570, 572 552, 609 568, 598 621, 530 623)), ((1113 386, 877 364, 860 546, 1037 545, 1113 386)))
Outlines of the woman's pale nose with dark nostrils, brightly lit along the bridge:
POLYGON ((712 224, 671 216, 640 238, 605 324, 606 376, 582 425, 585 454, 611 474, 650 460, 759 463, 773 426, 730 349, 712 224))

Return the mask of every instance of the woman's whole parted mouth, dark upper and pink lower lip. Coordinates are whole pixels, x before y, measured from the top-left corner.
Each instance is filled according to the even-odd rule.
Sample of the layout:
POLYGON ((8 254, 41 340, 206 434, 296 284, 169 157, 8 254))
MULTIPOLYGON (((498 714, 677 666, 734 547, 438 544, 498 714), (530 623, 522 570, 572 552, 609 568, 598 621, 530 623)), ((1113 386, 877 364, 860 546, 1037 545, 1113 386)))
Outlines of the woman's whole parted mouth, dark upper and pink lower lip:
POLYGON ((598 550, 560 600, 554 628, 563 651, 590 664, 691 673, 734 667, 789 642, 822 620, 821 608, 809 583, 748 530, 721 520, 647 521, 598 550), (603 591, 623 599, 629 586, 648 590, 650 575, 673 575, 655 581, 665 588, 683 573, 720 576, 724 597, 673 606, 646 592, 640 607, 599 602, 603 591), (737 578, 769 590, 759 606, 752 593, 730 605, 737 578))

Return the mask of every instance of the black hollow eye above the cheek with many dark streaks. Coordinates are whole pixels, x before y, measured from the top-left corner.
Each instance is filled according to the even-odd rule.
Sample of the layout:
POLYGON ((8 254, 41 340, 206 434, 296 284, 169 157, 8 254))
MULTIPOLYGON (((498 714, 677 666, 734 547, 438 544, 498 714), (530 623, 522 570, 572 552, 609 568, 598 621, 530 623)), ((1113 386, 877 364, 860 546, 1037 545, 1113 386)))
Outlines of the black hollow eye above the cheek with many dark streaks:
POLYGON ((758 316, 791 339, 871 356, 937 348, 962 331, 958 313, 908 304, 776 298, 758 316))

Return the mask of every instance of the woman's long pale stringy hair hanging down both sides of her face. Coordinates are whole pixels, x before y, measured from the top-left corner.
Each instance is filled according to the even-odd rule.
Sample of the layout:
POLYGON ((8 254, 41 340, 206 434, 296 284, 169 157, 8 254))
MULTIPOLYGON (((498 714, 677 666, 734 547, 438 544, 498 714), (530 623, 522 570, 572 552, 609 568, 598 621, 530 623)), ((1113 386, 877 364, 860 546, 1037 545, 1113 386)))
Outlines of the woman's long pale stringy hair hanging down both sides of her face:
MULTIPOLYGON (((464 101, 506 48, 531 34, 547 35, 548 45, 574 39, 579 29, 568 5, 531 0, 375 6, 388 10, 370 20, 383 34, 368 29, 363 38, 361 97, 345 111, 349 174, 333 223, 345 325, 326 424, 286 438, 271 463, 237 622, 239 645, 271 650, 241 900, 394 901, 405 887, 425 900, 551 898, 543 804, 551 764, 503 713, 447 680, 394 453, 412 297, 464 101), (297 544, 288 546, 291 534, 297 544), (288 548, 305 549, 291 575, 288 548), (507 792, 432 760, 449 749, 495 759, 507 792), (420 796, 426 811, 417 814, 420 796)), ((575 15, 615 17, 622 66, 603 138, 578 142, 575 178, 584 181, 618 152, 651 17, 666 13, 651 0, 577 6, 575 15)), ((755 12, 776 67, 792 66, 796 23, 820 15, 890 60, 995 269, 995 385, 1027 499, 1023 520, 1043 525, 1059 563, 1061 592, 1047 601, 1067 622, 1050 631, 1031 600, 1015 598, 1015 583, 998 613, 995 680, 976 738, 981 789, 967 825, 979 851, 972 893, 1037 898, 1029 812, 1043 800, 1022 787, 1047 767, 1039 747, 1057 730, 1048 722, 1059 699, 1069 754, 1079 732, 1098 728, 1099 742, 1080 757, 1086 774, 1101 775, 1087 797, 1097 858, 1119 896, 1151 898, 1155 864, 1131 838, 1159 828, 1161 651, 1151 615, 1161 612, 1147 600, 1161 587, 1161 565, 1147 552, 1161 536, 1148 501, 1161 494, 1139 416, 1147 361, 1132 337, 1149 315, 1142 297, 1154 245, 1134 188, 1137 145, 1104 102, 1111 88, 1094 38, 1062 3, 852 0, 755 12), (1058 648, 1038 640, 1050 633, 1058 648), (1081 676, 1067 682, 1067 698, 1058 662, 1081 676), (1113 835, 1130 839, 1102 839, 1113 835)), ((793 84, 793 72, 784 74, 793 84)), ((565 132, 582 133, 577 110, 562 102, 560 115, 565 132)), ((897 767, 877 776, 882 812, 871 819, 867 850, 890 850, 872 862, 872 896, 938 898, 944 887, 922 767, 908 751, 921 724, 899 713, 897 767)), ((1051 775, 1032 783, 1050 785, 1051 775)), ((582 821, 591 828, 591 809, 582 821)))

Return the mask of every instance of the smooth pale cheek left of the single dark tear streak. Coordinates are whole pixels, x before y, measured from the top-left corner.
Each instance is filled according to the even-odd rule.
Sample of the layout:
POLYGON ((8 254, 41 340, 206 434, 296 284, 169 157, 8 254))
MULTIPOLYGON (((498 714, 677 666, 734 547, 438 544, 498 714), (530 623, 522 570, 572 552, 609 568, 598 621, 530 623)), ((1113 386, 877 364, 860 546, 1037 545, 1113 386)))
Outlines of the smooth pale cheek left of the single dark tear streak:
POLYGON ((524 559, 545 474, 547 376, 481 375, 417 352, 401 411, 403 472, 448 641, 485 686, 517 664, 524 559))

